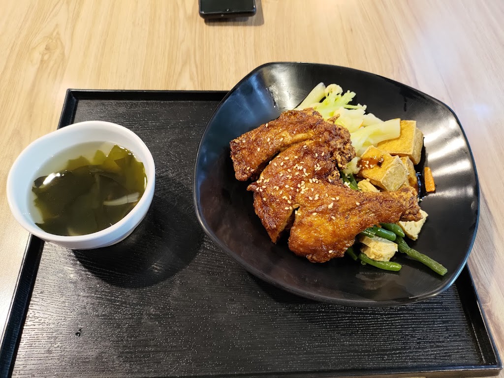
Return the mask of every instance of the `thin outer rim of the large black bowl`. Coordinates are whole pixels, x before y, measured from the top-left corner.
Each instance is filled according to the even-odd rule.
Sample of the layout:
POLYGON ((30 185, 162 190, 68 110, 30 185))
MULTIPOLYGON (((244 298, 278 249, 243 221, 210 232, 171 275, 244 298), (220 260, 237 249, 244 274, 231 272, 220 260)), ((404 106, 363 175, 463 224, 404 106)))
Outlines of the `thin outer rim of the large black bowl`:
POLYGON ((345 306, 355 306, 355 307, 392 307, 392 306, 398 306, 398 305, 404 305, 404 304, 409 304, 409 303, 415 303, 419 301, 423 301, 429 298, 432 298, 436 295, 439 295, 446 291, 452 284, 455 282, 455 280, 459 277, 460 273, 464 269, 464 267, 467 264, 467 259, 469 258, 469 255, 471 253, 472 247, 474 245, 474 241, 476 239, 476 233, 478 230, 478 224, 479 224, 479 214, 480 214, 480 187, 479 187, 479 179, 478 179, 478 172, 476 169, 476 162, 474 160, 474 156, 471 150, 471 147, 469 145, 469 141, 467 139, 466 133, 464 132, 464 129, 462 127, 462 124, 457 117, 457 114, 452 110, 450 106, 445 104, 444 102, 418 90, 413 87, 410 87, 406 84, 403 84, 401 82, 398 82, 396 80, 386 78, 381 75, 373 74, 371 72, 367 71, 362 71, 362 70, 357 70, 354 68, 350 67, 344 67, 344 66, 336 66, 336 65, 330 65, 330 64, 322 64, 322 63, 310 63, 310 62, 301 62, 301 61, 272 61, 272 62, 267 62, 261 66, 258 66, 254 70, 250 71, 246 76, 244 76, 227 94, 226 96, 221 100, 219 105, 215 108, 214 112, 212 113, 212 116, 209 118, 207 125, 205 127, 205 130, 201 136, 200 143, 198 145, 198 152, 196 154, 196 161, 195 161, 195 166, 194 166, 194 171, 193 171, 193 202, 194 202, 194 207, 196 211, 196 217, 198 218, 198 221, 200 222, 201 227, 205 231, 205 233, 210 237, 210 239, 217 244, 222 250, 225 251, 227 255, 229 255, 233 260, 235 260, 238 264, 240 264, 246 271, 254 274, 255 276, 261 278, 262 280, 272 284, 275 287, 278 287, 282 290, 289 291, 293 294, 302 296, 304 298, 308 299, 313 299, 313 300, 319 300, 323 302, 328 302, 328 303, 335 303, 335 304, 340 304, 340 305, 345 305, 345 306), (198 194, 199 194, 199 188, 198 188, 198 181, 197 181, 197 171, 198 171, 198 162, 200 160, 200 153, 202 151, 202 145, 203 141, 206 138, 207 134, 209 133, 209 125, 211 122, 213 122, 214 118, 216 117, 218 111, 222 107, 223 103, 234 93, 236 88, 238 88, 243 82, 247 81, 251 76, 255 75, 259 71, 263 70, 266 67, 269 66, 276 66, 276 65, 297 65, 297 66, 320 66, 320 67, 332 67, 334 69, 344 69, 344 70, 350 70, 358 74, 365 74, 365 75, 370 75, 378 78, 385 79, 389 82, 392 82, 394 84, 400 85, 402 87, 408 88, 421 96, 425 97, 426 99, 438 104, 441 107, 446 108, 452 116, 455 118, 457 121, 457 124, 459 125, 459 128, 462 132, 462 135, 464 137, 464 140, 466 142, 467 148, 469 150, 469 156, 472 162, 472 167, 474 170, 474 175, 475 175, 475 183, 476 183, 476 192, 475 192, 475 197, 476 197, 476 223, 475 223, 475 228, 474 232, 472 235, 472 238, 469 243, 469 247, 467 248, 467 251, 465 253, 465 256, 462 260, 462 263, 459 265, 459 268, 457 271, 455 271, 449 280, 443 281, 442 285, 436 286, 433 288, 431 291, 426 292, 424 294, 415 296, 413 298, 410 297, 400 297, 396 299, 388 299, 388 300, 383 300, 383 301, 375 301, 375 300, 365 300, 365 299, 346 299, 346 298, 334 298, 331 296, 323 295, 323 294, 318 294, 309 290, 303 290, 303 289, 298 289, 296 287, 292 286, 284 286, 278 282, 276 282, 274 279, 270 278, 267 274, 262 272, 261 270, 256 269, 255 267, 249 265, 244 259, 242 259, 240 256, 237 254, 233 253, 233 251, 228 248, 224 243, 220 240, 220 238, 211 230, 209 225, 207 224, 202 212, 201 208, 199 206, 199 201, 198 201, 198 194))

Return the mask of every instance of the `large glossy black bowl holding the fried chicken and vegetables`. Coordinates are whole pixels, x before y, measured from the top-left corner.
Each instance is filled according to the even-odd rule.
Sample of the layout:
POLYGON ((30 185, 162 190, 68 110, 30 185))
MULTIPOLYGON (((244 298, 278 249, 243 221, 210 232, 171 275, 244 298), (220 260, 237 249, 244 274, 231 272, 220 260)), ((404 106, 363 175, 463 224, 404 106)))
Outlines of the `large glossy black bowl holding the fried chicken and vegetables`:
POLYGON ((247 271, 301 296, 350 306, 393 306, 446 290, 466 264, 478 225, 476 168, 457 116, 444 103, 396 81, 350 68, 270 63, 243 78, 208 122, 195 166, 194 200, 210 238, 247 271), (421 203, 429 217, 417 250, 448 268, 440 277, 402 254, 398 273, 362 266, 350 258, 312 264, 286 242, 274 244, 253 207, 247 182, 234 178, 229 141, 297 106, 318 83, 357 93, 354 103, 382 119, 414 119, 423 132, 424 157, 436 192, 421 203))

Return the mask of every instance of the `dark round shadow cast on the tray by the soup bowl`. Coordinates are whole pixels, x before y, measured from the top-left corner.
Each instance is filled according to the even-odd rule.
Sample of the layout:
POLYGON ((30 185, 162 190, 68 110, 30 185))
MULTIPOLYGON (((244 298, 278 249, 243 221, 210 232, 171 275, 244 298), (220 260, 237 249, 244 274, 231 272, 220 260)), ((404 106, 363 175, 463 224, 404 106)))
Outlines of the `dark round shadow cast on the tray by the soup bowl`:
POLYGON ((109 247, 73 251, 86 269, 111 285, 154 285, 196 256, 203 231, 191 192, 175 180, 157 181, 149 212, 129 237, 109 247))

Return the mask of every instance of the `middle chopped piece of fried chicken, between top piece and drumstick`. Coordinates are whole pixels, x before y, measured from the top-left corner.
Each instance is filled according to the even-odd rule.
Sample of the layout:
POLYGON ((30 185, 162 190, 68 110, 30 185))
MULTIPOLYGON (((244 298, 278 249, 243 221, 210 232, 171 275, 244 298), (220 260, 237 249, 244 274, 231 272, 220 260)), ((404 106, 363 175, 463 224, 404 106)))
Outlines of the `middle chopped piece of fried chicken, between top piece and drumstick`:
POLYGON ((254 208, 273 242, 292 224, 296 197, 308 182, 336 180, 355 152, 348 130, 328 124, 316 140, 295 144, 274 158, 247 190, 254 192, 254 208))

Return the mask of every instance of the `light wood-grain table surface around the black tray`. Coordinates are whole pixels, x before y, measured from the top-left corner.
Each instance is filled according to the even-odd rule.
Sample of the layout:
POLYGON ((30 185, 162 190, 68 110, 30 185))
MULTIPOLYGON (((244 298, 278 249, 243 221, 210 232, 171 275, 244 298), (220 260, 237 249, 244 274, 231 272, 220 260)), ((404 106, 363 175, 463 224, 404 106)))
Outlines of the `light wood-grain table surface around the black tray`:
POLYGON ((28 237, 9 211, 7 174, 55 130, 68 88, 228 90, 265 62, 311 61, 400 81, 459 116, 481 186, 469 266, 502 351, 504 2, 257 1, 249 20, 208 23, 196 0, 0 0, 0 327, 28 237))

